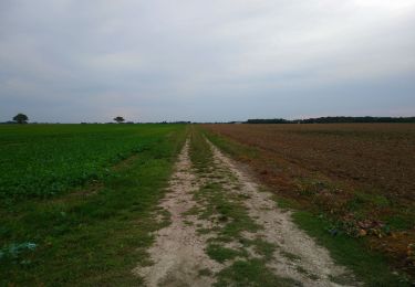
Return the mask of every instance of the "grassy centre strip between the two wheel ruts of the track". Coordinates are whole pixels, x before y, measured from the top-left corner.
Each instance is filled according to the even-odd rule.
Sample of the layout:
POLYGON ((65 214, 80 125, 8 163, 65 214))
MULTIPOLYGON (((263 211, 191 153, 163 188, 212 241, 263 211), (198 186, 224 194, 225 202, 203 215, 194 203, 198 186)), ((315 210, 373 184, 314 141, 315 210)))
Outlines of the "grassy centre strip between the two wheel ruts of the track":
POLYGON ((240 189, 236 176, 229 168, 215 162, 200 128, 191 129, 190 158, 204 184, 195 191, 198 205, 189 213, 211 222, 211 228, 199 227, 197 232, 209 234, 207 255, 227 264, 215 274, 217 283, 214 286, 299 286, 297 280, 276 275, 267 266, 276 246, 256 235, 263 227, 249 215, 243 203, 247 195, 236 192, 240 189), (252 240, 247 238, 247 234, 252 240), (249 249, 253 251, 255 257, 249 249))

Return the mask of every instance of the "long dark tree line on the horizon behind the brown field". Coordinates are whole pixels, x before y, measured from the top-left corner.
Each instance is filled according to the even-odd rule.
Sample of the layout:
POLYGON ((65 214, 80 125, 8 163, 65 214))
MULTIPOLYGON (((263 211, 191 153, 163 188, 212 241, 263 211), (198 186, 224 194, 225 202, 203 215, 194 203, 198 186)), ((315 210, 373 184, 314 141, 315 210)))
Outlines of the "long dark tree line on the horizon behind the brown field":
POLYGON ((245 124, 353 124, 353 123, 415 123, 415 117, 320 117, 307 119, 248 119, 245 124))

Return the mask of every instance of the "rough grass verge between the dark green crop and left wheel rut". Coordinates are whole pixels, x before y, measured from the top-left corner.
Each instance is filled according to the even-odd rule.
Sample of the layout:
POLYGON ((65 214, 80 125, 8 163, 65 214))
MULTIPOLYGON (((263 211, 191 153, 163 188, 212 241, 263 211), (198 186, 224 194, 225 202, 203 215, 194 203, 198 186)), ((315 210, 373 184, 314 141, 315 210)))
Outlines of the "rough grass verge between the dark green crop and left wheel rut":
MULTIPOLYGON (((35 130, 24 131, 27 128, 31 127, 13 132, 21 138, 24 138, 24 132, 35 134, 35 130)), ((53 145, 48 144, 49 147, 59 147, 59 137, 66 146, 64 134, 69 134, 69 138, 74 137, 74 126, 45 128, 60 135, 53 145)), ((108 150, 120 148, 127 152, 129 147, 145 148, 129 153, 134 156, 113 168, 110 168, 114 163, 111 152, 105 153, 108 157, 103 161, 102 158, 96 159, 106 162, 108 172, 83 188, 66 185, 65 192, 49 199, 39 199, 37 194, 41 191, 37 190, 34 199, 29 200, 27 198, 32 193, 28 192, 24 194, 27 200, 15 201, 0 210, 1 286, 131 286, 141 283, 132 269, 148 262, 146 248, 154 240, 149 234, 167 223, 156 222, 154 212, 159 212, 156 205, 164 195, 183 146, 185 126, 86 127, 90 131, 94 128, 101 135, 96 141, 77 141, 83 145, 89 142, 82 146, 85 155, 94 149, 95 142, 101 145, 97 142, 100 139, 105 142, 103 146, 108 146, 108 150), (131 145, 127 148, 118 144, 124 139, 131 145), (112 149, 112 144, 117 148, 112 149), (23 245, 21 249, 15 248, 17 244, 24 243, 34 244, 34 247, 23 245), (13 246, 14 249, 11 248, 13 246)), ((43 135, 42 130, 40 132, 43 135)), ((83 136, 91 138, 86 130, 76 137, 83 136)), ((38 138, 43 141, 42 137, 34 136, 31 140, 38 138)), ((82 147, 77 146, 79 149, 82 147)), ((72 151, 69 149, 62 157, 72 151)), ((93 157, 89 160, 93 161, 93 157)))

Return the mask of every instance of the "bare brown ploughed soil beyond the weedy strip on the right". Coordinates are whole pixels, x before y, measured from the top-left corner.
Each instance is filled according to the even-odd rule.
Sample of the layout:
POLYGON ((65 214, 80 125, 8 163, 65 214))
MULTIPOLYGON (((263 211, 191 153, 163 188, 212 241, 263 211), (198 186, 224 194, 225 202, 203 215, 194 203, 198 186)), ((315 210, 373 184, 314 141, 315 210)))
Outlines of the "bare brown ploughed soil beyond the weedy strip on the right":
POLYGON ((311 172, 386 198, 415 196, 415 125, 210 125, 215 132, 271 151, 311 172))

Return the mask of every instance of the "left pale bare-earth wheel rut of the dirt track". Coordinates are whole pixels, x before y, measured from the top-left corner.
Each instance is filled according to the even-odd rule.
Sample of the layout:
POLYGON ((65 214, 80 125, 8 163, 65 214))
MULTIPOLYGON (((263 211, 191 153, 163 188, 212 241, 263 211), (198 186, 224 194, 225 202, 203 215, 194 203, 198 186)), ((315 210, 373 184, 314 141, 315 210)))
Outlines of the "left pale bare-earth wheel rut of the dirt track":
POLYGON ((206 255, 206 241, 196 234, 195 222, 198 220, 185 216, 196 204, 193 192, 198 189, 188 150, 187 140, 170 180, 170 192, 160 204, 170 213, 172 224, 157 233, 156 243, 149 249, 154 265, 134 270, 148 286, 210 286, 214 278, 199 276, 199 273, 220 268, 206 255))

